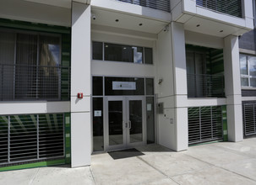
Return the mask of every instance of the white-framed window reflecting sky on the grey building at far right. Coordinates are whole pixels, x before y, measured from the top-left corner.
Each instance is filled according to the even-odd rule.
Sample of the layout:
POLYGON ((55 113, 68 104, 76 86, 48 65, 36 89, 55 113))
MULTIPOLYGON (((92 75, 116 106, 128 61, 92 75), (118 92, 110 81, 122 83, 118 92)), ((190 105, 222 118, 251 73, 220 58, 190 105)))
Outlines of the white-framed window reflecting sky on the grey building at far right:
POLYGON ((242 87, 256 87, 256 56, 240 54, 242 87))

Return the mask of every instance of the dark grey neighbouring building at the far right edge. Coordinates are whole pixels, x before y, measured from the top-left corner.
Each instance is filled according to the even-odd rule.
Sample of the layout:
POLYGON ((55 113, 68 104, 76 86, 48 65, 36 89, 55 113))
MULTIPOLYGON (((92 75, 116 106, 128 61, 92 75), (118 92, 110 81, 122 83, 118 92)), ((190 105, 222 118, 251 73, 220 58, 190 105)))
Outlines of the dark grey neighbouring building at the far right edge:
MULTIPOLYGON (((253 1, 253 17, 255 18, 255 1, 253 1)), ((255 26, 254 19, 254 26, 255 26)), ((256 29, 242 34, 239 38, 240 47, 240 75, 241 75, 241 91, 242 91, 242 119, 243 119, 243 135, 245 138, 256 134, 255 124, 255 42, 256 29)))

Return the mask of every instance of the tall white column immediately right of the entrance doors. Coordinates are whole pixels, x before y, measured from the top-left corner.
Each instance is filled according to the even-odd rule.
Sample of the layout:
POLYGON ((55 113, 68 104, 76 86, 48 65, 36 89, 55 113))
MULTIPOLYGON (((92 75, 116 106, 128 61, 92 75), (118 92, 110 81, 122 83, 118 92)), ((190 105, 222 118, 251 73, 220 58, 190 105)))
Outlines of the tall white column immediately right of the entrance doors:
POLYGON ((186 47, 183 24, 172 22, 172 70, 174 85, 174 114, 176 151, 188 149, 188 90, 186 47))

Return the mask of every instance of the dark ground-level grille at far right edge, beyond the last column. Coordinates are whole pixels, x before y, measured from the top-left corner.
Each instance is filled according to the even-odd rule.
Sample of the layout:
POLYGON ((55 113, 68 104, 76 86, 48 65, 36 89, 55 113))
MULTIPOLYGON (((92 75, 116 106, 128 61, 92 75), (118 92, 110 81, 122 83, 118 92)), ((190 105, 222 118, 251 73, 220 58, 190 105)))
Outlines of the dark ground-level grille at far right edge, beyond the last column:
POLYGON ((244 135, 256 135, 256 103, 243 104, 244 135))

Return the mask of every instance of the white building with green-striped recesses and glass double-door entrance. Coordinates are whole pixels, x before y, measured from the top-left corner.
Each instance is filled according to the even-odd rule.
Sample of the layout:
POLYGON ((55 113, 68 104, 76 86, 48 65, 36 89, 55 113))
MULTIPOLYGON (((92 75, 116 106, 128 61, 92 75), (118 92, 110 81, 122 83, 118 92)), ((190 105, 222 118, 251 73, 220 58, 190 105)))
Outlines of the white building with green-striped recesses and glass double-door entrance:
POLYGON ((0 170, 243 140, 253 27, 245 0, 0 2, 0 170))

